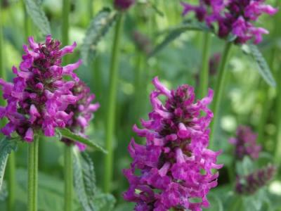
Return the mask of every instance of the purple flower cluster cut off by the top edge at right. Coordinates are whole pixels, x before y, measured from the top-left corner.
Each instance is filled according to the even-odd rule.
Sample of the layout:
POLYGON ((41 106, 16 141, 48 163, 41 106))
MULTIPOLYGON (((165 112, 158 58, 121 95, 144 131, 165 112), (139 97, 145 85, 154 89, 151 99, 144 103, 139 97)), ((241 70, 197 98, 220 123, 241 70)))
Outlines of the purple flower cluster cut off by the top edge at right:
POLYGON ((199 6, 183 3, 183 15, 195 12, 197 19, 213 27, 218 24, 218 37, 235 36, 236 44, 244 44, 254 39, 255 44, 262 41, 268 30, 255 27, 254 22, 263 13, 274 15, 277 9, 264 3, 264 0, 200 0, 199 6))

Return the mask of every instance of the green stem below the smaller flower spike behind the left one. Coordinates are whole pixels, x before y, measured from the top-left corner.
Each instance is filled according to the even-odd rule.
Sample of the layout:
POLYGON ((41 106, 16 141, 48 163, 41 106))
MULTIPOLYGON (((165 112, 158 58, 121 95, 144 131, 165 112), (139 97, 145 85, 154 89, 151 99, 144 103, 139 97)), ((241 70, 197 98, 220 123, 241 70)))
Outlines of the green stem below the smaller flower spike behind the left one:
POLYGON ((72 146, 65 145, 65 211, 72 211, 73 203, 73 154, 72 146))

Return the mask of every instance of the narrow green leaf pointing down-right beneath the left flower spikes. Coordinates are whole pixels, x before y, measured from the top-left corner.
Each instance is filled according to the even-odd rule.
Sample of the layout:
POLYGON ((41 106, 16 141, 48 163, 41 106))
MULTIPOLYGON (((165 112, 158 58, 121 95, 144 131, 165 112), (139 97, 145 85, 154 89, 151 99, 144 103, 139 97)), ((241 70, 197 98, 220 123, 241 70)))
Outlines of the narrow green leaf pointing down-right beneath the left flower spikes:
POLYGON ((103 153, 107 153, 107 151, 105 151, 105 149, 100 146, 98 143, 95 143, 94 141, 90 141, 88 139, 85 139, 82 136, 79 136, 77 134, 72 133, 69 129, 66 128, 59 128, 57 129, 57 132, 61 134, 61 136, 70 139, 72 141, 78 141, 80 143, 84 143, 88 146, 91 146, 93 148, 95 148, 98 151, 102 151, 103 153))

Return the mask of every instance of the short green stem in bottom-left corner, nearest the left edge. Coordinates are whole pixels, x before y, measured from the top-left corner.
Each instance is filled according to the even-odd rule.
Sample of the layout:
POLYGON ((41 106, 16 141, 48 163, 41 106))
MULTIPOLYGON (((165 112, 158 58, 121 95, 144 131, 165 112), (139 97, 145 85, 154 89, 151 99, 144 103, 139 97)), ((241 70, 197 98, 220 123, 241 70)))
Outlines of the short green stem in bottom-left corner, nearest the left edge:
POLYGON ((13 211, 15 207, 15 153, 8 157, 8 210, 13 211))

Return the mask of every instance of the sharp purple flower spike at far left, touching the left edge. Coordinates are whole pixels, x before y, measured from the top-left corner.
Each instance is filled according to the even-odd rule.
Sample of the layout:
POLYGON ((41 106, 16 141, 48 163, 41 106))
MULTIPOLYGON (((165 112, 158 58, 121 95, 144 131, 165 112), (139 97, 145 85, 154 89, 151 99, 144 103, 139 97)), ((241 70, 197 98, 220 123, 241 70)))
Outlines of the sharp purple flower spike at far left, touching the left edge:
POLYGON ((10 136, 17 132, 25 141, 33 141, 34 132, 42 129, 46 136, 55 134, 55 127, 65 127, 73 113, 65 109, 77 101, 72 94, 74 81, 65 81, 63 76, 70 75, 79 81, 73 70, 81 64, 61 66, 62 57, 72 53, 76 44, 60 49, 60 41, 51 36, 44 43, 37 43, 33 37, 24 45, 20 70, 13 67, 16 77, 13 83, 0 79, 3 98, 7 106, 0 107, 0 117, 6 117, 8 124, 1 132, 10 136))

